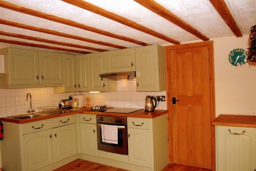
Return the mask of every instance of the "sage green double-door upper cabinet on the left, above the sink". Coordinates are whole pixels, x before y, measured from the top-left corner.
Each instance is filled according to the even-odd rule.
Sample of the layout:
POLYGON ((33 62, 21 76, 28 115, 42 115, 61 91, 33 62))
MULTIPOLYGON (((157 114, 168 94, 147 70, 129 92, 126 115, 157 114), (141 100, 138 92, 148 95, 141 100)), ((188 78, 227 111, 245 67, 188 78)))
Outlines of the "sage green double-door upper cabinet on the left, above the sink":
POLYGON ((60 53, 4 48, 5 74, 0 88, 56 87, 63 83, 63 57, 60 53))

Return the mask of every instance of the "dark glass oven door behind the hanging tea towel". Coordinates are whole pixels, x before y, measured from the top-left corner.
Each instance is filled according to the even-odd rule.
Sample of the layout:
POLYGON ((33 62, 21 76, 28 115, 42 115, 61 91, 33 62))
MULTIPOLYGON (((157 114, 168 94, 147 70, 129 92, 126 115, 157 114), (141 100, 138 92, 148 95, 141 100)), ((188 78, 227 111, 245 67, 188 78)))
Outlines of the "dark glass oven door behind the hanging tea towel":
POLYGON ((105 152, 128 155, 127 126, 126 125, 117 125, 117 126, 118 126, 118 144, 112 144, 112 143, 102 142, 101 124, 97 123, 98 149, 105 152))

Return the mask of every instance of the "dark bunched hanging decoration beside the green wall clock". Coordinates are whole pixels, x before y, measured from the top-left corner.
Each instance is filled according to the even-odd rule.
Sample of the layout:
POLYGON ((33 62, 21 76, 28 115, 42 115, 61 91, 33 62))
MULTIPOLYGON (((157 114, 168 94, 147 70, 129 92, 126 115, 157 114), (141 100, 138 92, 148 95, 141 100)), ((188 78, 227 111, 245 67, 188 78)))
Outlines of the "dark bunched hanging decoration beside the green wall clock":
POLYGON ((248 57, 247 61, 249 65, 256 64, 256 25, 252 26, 249 33, 249 40, 248 40, 248 57))

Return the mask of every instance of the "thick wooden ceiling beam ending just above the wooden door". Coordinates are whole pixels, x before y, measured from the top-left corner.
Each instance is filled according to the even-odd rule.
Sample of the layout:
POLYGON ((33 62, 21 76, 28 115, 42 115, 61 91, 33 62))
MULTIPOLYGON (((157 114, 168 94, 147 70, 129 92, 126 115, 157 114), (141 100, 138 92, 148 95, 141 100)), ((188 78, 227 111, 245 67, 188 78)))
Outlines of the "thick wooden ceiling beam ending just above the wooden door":
POLYGON ((173 14, 157 2, 153 0, 134 0, 135 2, 139 3, 140 5, 144 6, 145 8, 155 12, 156 14, 160 15, 161 17, 167 19, 169 22, 181 27, 182 29, 186 30, 187 32, 197 36, 198 38, 207 41, 209 40, 208 37, 200 33, 198 30, 187 24, 184 20, 182 20, 177 15, 173 14))

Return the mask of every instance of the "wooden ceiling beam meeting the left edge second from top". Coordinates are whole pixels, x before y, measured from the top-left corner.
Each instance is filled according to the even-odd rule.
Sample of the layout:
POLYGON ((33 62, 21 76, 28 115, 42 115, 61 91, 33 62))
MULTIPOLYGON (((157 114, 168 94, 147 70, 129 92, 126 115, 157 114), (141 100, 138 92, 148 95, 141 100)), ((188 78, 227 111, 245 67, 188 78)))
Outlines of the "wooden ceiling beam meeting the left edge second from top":
POLYGON ((109 46, 109 47, 112 47, 112 48, 118 48, 118 49, 125 49, 126 48, 124 46, 114 45, 114 44, 110 44, 108 42, 97 41, 97 40, 93 40, 93 39, 89 39, 89 38, 75 36, 75 35, 72 35, 72 34, 67 34, 67 33, 62 33, 62 32, 58 32, 58 31, 50 30, 50 29, 29 26, 29 25, 25 25, 25 24, 21 24, 21 23, 16 23, 16 22, 11 22, 11 21, 5 20, 5 19, 0 19, 0 24, 13 26, 13 27, 18 27, 18 28, 27 29, 27 30, 38 31, 38 32, 41 32, 41 33, 53 34, 53 35, 57 35, 57 36, 61 36, 61 37, 73 38, 73 39, 77 39, 77 40, 81 40, 81 41, 91 42, 93 44, 109 46))

